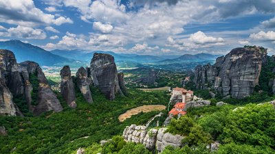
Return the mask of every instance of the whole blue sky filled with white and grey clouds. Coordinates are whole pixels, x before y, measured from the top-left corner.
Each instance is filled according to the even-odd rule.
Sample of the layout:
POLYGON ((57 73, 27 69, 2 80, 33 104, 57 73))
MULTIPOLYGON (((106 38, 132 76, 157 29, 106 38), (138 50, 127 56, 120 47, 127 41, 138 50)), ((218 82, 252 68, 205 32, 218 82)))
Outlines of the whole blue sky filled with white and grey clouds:
POLYGON ((0 40, 11 39, 48 51, 275 54, 275 0, 0 0, 0 40))

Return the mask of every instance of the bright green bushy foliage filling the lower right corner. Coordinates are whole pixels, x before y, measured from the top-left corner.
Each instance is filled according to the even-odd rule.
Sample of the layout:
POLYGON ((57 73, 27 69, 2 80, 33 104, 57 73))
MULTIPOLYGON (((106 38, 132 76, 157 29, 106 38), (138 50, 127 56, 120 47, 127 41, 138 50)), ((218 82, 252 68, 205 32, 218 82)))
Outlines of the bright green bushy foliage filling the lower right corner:
POLYGON ((214 153, 275 153, 274 130, 275 110, 270 103, 193 108, 168 126, 170 133, 186 136, 182 140, 186 146, 167 147, 164 153, 210 153, 203 148, 210 140, 221 143, 214 153))

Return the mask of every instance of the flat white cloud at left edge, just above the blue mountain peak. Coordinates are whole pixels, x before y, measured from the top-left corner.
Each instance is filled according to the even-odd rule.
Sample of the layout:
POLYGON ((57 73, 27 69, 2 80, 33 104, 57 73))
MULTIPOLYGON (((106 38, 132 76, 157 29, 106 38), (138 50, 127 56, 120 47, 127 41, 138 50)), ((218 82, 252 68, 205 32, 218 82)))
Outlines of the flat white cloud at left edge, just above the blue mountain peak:
POLYGON ((17 27, 11 27, 5 32, 1 32, 0 36, 40 40, 47 38, 47 35, 41 29, 33 29, 32 27, 24 27, 20 25, 17 27))

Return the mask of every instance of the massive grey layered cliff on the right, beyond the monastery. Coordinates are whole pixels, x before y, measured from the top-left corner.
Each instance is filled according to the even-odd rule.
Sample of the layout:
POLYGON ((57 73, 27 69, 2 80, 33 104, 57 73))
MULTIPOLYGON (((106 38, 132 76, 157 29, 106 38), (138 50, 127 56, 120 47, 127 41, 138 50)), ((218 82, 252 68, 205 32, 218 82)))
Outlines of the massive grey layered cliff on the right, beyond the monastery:
POLYGON ((232 49, 224 57, 218 57, 211 66, 197 66, 194 82, 197 88, 214 88, 223 96, 248 97, 259 84, 261 66, 266 62, 267 49, 243 47, 232 49))

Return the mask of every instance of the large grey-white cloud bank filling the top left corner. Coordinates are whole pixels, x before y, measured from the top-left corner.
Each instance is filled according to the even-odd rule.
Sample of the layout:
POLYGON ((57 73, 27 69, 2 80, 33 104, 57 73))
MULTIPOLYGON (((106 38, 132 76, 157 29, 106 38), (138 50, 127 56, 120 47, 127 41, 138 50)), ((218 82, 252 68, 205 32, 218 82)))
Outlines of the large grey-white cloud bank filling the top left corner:
POLYGON ((32 0, 17 0, 16 3, 10 0, 0 1, 0 22, 14 25, 40 25, 72 23, 70 18, 63 16, 56 18, 52 14, 45 14, 36 8, 32 0))

